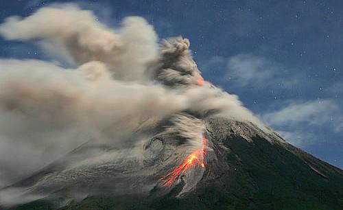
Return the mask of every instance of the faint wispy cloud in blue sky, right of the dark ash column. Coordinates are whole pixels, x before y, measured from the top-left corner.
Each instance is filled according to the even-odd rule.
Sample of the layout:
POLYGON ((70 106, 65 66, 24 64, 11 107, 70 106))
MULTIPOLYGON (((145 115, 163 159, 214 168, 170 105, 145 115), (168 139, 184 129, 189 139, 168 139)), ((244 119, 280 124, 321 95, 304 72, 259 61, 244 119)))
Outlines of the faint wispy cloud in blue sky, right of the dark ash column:
POLYGON ((229 58, 215 56, 204 63, 204 69, 211 72, 211 77, 217 75, 214 80, 231 89, 246 89, 247 86, 291 89, 300 86, 299 81, 304 78, 301 73, 291 74, 294 69, 290 67, 254 54, 237 54, 229 58))

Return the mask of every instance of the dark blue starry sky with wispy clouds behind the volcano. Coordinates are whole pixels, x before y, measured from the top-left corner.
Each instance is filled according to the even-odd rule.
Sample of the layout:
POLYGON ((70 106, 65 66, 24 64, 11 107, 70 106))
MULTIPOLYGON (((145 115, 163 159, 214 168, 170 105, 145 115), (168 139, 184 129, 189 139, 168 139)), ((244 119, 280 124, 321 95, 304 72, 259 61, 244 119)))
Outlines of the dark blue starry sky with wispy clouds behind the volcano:
MULTIPOLYGON (((1 1, 0 21, 49 3, 1 1)), ((340 1, 72 1, 115 27, 143 16, 160 38, 184 36, 204 78, 239 95, 285 139, 343 168, 340 1)), ((47 59, 0 39, 1 58, 47 59)))

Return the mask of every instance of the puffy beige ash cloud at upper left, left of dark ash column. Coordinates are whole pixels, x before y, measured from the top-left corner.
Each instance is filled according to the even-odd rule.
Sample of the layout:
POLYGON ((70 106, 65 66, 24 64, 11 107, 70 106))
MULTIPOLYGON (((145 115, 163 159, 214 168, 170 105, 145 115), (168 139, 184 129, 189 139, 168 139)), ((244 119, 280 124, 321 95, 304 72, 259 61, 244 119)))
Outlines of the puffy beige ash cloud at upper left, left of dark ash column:
POLYGON ((36 40, 76 65, 104 62, 121 80, 143 79, 147 62, 158 58, 157 35, 145 19, 130 16, 112 30, 99 23, 92 11, 73 4, 42 8, 25 19, 11 16, 0 34, 8 40, 36 40))

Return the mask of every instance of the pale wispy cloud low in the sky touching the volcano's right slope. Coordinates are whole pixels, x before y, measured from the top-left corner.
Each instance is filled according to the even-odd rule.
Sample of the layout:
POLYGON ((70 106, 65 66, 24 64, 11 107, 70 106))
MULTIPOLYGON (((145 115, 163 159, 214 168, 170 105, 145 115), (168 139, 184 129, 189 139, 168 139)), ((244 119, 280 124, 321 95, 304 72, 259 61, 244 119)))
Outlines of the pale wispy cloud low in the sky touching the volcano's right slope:
POLYGON ((343 118, 333 100, 289 101, 287 105, 261 115, 286 141, 305 147, 320 141, 321 129, 340 132, 343 118))

